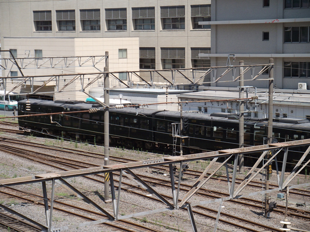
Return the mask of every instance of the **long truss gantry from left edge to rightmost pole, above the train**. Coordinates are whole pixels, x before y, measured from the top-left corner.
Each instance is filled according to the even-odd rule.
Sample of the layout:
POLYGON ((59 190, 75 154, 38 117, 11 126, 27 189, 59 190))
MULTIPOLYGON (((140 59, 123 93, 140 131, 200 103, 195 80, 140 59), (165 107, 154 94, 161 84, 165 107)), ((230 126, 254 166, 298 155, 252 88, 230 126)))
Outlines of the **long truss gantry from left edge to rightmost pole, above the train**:
MULTIPOLYGON (((103 59, 104 57, 102 57, 103 59)), ((50 61, 52 58, 48 58, 50 61)), ((77 57, 78 59, 78 57, 77 57)), ((92 57, 89 57, 92 59, 92 57)), ((253 81, 253 80, 269 80, 269 78, 263 78, 262 73, 272 67, 274 64, 262 64, 262 65, 237 65, 237 66, 218 66, 210 68, 191 68, 191 69, 169 69, 169 70, 139 70, 139 71, 122 71, 122 72, 99 72, 99 73, 73 73, 73 74, 52 74, 52 75, 28 75, 25 76, 14 76, 14 77, 0 77, 0 83, 2 89, 6 90, 8 93, 13 92, 15 89, 22 85, 29 85, 31 87, 31 92, 28 94, 47 94, 47 93, 59 93, 65 92, 66 88, 70 85, 76 85, 76 82, 80 82, 80 88, 75 91, 84 92, 87 87, 90 87, 92 84, 96 83, 101 79, 105 74, 109 74, 110 77, 115 78, 119 83, 122 83, 124 87, 132 88, 134 85, 134 77, 137 77, 145 87, 155 87, 155 78, 161 79, 168 88, 173 88, 177 85, 184 85, 176 83, 176 76, 178 78, 186 79, 188 85, 201 85, 208 83, 216 82, 237 82, 239 81, 240 76, 244 75, 247 72, 251 73, 250 79, 245 79, 244 81, 253 81), (236 75, 236 69, 243 67, 244 71, 236 75), (254 74, 255 68, 263 67, 260 72, 254 74), (218 70, 225 70, 219 77, 216 77, 218 70), (186 76, 186 72, 192 75, 192 77, 186 76), (122 80, 118 77, 118 73, 126 73, 128 80, 122 80), (203 82, 205 76, 212 73, 211 80, 209 82, 203 82), (231 73, 232 80, 221 81, 225 75, 231 73), (146 76, 149 77, 150 81, 146 80, 146 76), (260 79, 259 77, 262 77, 260 79), (65 80, 65 81, 64 81, 65 80), (8 85, 9 81, 14 81, 14 86, 8 85), (55 91, 53 92, 44 92, 42 88, 47 85, 55 86, 55 91)), ((40 66, 40 65, 39 65, 40 66)), ((94 66, 93 66, 94 67, 94 66)), ((70 90, 73 91, 73 90, 70 90)))

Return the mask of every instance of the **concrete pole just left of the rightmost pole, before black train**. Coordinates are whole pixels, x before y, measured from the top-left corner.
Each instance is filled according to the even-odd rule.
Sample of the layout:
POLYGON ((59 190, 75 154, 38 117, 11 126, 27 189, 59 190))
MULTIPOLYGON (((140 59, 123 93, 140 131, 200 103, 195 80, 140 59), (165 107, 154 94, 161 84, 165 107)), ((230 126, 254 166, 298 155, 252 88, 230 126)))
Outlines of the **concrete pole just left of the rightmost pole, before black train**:
MULTIPOLYGON (((240 60, 239 65, 244 65, 244 61, 240 60)), ((243 72, 244 67, 239 67, 239 73, 243 72)), ((240 76, 239 82, 239 98, 244 98, 244 75, 240 76)), ((240 100, 239 105, 239 147, 244 147, 244 100, 240 100)), ((243 154, 239 155, 239 172, 244 171, 244 159, 243 154)))

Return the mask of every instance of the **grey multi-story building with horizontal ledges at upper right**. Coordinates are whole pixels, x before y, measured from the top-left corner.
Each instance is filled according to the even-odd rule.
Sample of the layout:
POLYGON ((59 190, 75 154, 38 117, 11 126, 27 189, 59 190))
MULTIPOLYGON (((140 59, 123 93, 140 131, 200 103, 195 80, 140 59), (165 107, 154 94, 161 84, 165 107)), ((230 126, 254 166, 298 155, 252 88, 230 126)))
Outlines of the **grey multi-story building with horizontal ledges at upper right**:
MULTIPOLYGON (((212 0, 211 12, 212 21, 206 22, 212 31, 211 66, 225 66, 229 54, 236 57, 232 65, 239 60, 246 65, 267 64, 273 58, 274 87, 297 89, 298 83, 306 83, 299 87, 310 88, 309 0, 212 0)), ((267 78, 268 72, 264 74, 267 78)), ((231 76, 226 80, 232 80, 231 76)), ((267 88, 268 81, 247 81, 245 85, 267 88)))

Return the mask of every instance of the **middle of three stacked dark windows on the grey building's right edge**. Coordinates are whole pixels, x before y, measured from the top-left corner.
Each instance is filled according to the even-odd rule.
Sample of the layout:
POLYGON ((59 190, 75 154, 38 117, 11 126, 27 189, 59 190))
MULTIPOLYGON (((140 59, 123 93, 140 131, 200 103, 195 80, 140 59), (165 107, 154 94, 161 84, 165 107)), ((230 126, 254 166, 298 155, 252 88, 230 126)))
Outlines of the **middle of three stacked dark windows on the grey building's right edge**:
POLYGON ((309 27, 285 27, 285 43, 306 43, 310 42, 309 27))

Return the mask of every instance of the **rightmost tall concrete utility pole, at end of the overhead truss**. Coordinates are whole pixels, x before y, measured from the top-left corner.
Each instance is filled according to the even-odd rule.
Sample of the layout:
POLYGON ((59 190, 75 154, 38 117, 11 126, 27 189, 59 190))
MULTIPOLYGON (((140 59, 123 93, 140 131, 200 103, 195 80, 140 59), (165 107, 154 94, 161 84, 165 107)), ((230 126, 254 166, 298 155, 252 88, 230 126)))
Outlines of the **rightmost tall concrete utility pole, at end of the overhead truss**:
MULTIPOLYGON (((269 59, 269 64, 273 64, 273 59, 269 59)), ((268 100, 268 128, 267 128, 267 144, 272 142, 272 120, 273 120, 273 66, 269 68, 269 100, 268 100)), ((270 152, 271 153, 271 152, 270 152)), ((267 155, 269 160, 271 154, 267 155)), ((266 190, 269 189, 269 165, 266 166, 266 190)), ((269 194, 265 194, 265 218, 267 218, 269 194)))

